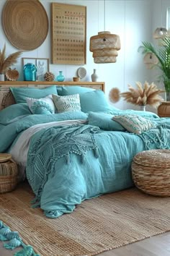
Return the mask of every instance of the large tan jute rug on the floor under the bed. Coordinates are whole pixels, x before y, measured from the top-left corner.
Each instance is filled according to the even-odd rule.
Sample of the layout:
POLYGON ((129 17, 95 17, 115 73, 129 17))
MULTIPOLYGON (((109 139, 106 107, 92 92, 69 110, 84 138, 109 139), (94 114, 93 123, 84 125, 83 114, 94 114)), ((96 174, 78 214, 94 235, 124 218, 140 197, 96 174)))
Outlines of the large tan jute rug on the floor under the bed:
POLYGON ((71 214, 46 218, 32 209, 27 184, 0 195, 0 219, 42 256, 97 255, 170 231, 170 197, 132 188, 86 200, 71 214))

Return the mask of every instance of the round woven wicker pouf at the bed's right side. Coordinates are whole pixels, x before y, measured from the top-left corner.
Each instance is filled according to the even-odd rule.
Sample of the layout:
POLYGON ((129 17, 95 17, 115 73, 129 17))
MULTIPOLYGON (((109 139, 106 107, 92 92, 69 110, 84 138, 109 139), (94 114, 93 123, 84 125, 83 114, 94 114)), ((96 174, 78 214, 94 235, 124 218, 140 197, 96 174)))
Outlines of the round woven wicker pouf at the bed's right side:
POLYGON ((146 150, 132 163, 133 182, 149 195, 170 196, 170 150, 146 150))

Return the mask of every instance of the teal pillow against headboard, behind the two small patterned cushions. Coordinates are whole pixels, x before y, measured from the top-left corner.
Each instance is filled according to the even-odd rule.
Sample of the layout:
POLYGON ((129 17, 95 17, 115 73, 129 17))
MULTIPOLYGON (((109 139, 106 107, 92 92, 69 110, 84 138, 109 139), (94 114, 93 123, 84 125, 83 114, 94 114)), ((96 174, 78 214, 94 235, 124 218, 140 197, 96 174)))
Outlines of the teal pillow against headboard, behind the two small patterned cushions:
POLYGON ((56 86, 50 86, 47 88, 10 88, 16 103, 26 102, 26 98, 44 98, 50 94, 57 94, 56 86))

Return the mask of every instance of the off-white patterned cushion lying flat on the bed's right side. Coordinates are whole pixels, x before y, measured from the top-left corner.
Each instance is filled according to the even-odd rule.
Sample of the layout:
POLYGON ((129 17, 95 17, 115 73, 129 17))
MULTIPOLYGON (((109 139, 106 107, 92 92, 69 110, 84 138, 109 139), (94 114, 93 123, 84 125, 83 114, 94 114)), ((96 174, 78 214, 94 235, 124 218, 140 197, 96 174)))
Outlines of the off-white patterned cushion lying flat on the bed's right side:
POLYGON ((127 114, 125 116, 113 116, 112 119, 117 121, 122 127, 125 127, 128 132, 140 134, 148 129, 155 128, 156 124, 142 116, 127 114))

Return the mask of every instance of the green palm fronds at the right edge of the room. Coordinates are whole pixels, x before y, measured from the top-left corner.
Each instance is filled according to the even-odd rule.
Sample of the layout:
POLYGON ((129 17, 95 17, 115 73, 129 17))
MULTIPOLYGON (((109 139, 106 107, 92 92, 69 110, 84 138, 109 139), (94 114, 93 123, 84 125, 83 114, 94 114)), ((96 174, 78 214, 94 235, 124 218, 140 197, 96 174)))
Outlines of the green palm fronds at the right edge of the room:
POLYGON ((142 54, 152 53, 157 57, 158 64, 153 67, 161 69, 161 75, 158 78, 164 82, 166 101, 170 101, 170 38, 168 36, 161 38, 160 46, 154 46, 153 43, 144 41, 138 51, 141 51, 142 54))

